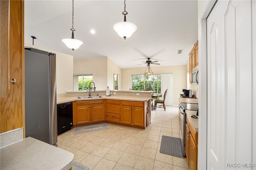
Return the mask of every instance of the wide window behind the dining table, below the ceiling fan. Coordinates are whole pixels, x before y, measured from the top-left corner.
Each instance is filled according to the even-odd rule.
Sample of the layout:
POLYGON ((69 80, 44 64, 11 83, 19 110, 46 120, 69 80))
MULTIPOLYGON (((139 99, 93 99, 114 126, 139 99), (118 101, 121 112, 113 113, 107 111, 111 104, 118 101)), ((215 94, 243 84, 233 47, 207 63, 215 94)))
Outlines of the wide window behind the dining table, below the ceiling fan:
POLYGON ((132 90, 145 90, 147 88, 153 88, 154 93, 161 93, 161 74, 132 75, 132 90))

